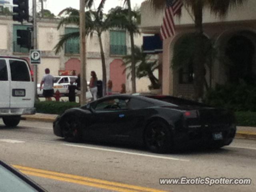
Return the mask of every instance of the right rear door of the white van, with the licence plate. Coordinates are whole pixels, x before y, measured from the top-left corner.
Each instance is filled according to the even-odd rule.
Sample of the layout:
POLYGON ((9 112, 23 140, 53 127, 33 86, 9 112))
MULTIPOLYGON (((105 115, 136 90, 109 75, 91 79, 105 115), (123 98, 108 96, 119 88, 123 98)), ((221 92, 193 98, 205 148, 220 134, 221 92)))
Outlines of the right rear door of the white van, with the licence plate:
POLYGON ((10 108, 34 107, 34 82, 25 60, 9 59, 10 65, 10 108))

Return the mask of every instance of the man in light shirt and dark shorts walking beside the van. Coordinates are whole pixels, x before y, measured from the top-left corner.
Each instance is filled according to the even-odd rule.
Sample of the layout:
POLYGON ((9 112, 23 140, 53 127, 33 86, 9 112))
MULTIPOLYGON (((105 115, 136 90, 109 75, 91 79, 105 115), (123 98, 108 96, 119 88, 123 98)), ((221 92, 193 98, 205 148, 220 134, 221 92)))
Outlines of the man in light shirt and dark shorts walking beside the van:
POLYGON ((45 71, 45 75, 42 78, 42 81, 40 84, 40 90, 42 90, 42 86, 44 85, 43 95, 45 97, 45 100, 51 101, 52 96, 54 94, 54 89, 53 89, 54 77, 50 74, 50 69, 46 68, 44 71, 45 71))

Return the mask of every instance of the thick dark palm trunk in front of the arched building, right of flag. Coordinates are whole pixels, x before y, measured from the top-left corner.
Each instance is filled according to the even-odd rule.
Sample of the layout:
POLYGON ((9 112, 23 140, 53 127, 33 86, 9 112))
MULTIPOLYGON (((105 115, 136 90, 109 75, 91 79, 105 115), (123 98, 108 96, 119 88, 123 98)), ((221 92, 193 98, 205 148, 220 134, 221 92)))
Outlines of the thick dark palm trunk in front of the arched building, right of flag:
POLYGON ((204 95, 204 42, 203 42, 203 4, 202 0, 198 0, 194 4, 195 28, 196 28, 196 55, 194 56, 194 90, 195 99, 200 100, 204 95))

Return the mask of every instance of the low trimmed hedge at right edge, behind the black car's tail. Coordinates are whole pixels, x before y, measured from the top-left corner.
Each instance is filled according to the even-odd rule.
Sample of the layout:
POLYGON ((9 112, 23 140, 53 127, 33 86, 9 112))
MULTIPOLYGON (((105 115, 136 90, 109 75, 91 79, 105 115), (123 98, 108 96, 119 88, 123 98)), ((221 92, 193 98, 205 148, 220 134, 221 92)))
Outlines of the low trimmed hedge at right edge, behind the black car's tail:
POLYGON ((235 112, 238 126, 256 127, 256 112, 235 112))

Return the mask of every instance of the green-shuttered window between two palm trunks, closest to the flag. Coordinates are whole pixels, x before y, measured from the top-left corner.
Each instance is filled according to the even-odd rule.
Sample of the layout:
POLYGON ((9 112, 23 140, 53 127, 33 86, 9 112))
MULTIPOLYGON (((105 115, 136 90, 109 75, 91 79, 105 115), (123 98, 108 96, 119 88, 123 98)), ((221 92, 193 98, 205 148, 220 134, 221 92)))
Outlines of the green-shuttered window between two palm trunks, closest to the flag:
POLYGON ((110 55, 126 55, 126 32, 110 31, 110 55))

